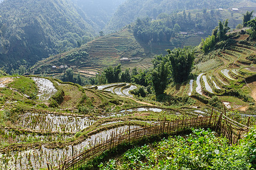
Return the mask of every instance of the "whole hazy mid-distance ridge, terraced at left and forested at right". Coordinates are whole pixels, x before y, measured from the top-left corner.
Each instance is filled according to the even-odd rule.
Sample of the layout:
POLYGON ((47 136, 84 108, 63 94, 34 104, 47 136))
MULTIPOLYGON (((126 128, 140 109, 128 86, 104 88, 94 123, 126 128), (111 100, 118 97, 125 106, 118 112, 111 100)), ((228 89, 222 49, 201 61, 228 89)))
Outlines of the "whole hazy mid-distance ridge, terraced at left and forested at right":
MULTIPOLYGON (((123 57, 135 58, 132 62, 121 63, 122 69, 152 67, 153 56, 163 54, 166 49, 183 46, 197 46, 202 38, 211 35, 218 20, 229 18, 229 10, 200 11, 190 10, 178 14, 165 15, 151 21, 149 18, 138 19, 122 31, 95 39, 81 48, 49 57, 32 67, 33 74, 50 74, 58 77, 64 69, 52 66, 75 66, 75 73, 82 76, 95 76, 105 67, 116 66, 123 57), (177 28, 178 27, 178 28, 177 28), (183 34, 185 32, 186 34, 183 34)), ((242 23, 242 14, 237 12, 230 19, 230 24, 242 23)), ((229 25, 230 25, 229 24, 229 25)))

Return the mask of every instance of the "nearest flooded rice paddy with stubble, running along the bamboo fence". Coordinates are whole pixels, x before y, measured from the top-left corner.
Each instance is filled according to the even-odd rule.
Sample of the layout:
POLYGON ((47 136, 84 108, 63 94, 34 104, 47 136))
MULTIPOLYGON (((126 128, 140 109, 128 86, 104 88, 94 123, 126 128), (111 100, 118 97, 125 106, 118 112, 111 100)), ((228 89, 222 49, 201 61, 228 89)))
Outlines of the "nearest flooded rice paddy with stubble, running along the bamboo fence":
MULTIPOLYGON (((8 154, 0 154, 0 169, 40 169, 46 168, 47 162, 53 167, 61 163, 61 160, 70 158, 72 153, 74 155, 90 148, 97 143, 106 141, 110 138, 111 133, 119 134, 128 130, 129 126, 121 126, 119 128, 102 131, 100 133, 91 135, 85 141, 74 146, 67 146, 65 148, 47 148, 42 145, 38 149, 28 149, 24 151, 11 151, 8 154)), ((135 129, 137 126, 131 126, 135 129)))

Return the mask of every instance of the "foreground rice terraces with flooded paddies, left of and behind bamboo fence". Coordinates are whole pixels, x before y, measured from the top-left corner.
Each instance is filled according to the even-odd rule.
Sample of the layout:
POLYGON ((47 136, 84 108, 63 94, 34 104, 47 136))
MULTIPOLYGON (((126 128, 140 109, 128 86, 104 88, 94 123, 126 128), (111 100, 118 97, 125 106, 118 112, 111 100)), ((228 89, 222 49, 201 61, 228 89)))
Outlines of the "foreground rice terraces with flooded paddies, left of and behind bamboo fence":
POLYGON ((153 124, 163 115, 177 120, 211 112, 136 101, 129 93, 134 88, 118 83, 95 90, 57 79, 1 76, 0 169, 56 166, 112 133, 153 124))

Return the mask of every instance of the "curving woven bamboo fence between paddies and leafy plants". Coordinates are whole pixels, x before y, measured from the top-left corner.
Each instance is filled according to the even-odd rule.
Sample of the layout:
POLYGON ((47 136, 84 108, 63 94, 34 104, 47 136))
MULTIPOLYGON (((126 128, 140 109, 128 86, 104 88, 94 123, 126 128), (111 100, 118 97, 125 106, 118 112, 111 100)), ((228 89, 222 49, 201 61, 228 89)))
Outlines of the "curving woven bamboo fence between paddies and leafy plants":
MULTIPOLYGON (((213 114, 213 112, 212 112, 213 114)), ((236 143, 240 139, 240 132, 237 134, 232 129, 232 126, 235 125, 239 130, 249 130, 250 128, 238 124, 238 122, 231 120, 230 118, 220 114, 217 116, 207 116, 207 117, 197 117, 197 118, 190 118, 184 120, 177 120, 177 121, 166 121, 166 119, 162 122, 157 124, 145 126, 142 128, 135 128, 131 129, 131 124, 129 124, 129 128, 123 133, 117 134, 112 132, 110 138, 107 138, 101 143, 96 144, 96 139, 94 145, 83 151, 79 155, 75 155, 72 158, 68 158, 64 160, 64 162, 58 167, 52 168, 48 165, 48 170, 53 169, 78 169, 82 165, 85 165, 87 162, 95 159, 97 156, 103 154, 103 152, 110 151, 115 147, 118 147, 121 143, 133 142, 138 141, 143 138, 149 137, 162 137, 165 135, 175 135, 179 134, 184 130, 191 129, 191 128, 215 128, 215 131, 223 134, 226 138, 229 139, 230 144, 236 143)), ((249 122, 249 121, 248 121, 249 122)))

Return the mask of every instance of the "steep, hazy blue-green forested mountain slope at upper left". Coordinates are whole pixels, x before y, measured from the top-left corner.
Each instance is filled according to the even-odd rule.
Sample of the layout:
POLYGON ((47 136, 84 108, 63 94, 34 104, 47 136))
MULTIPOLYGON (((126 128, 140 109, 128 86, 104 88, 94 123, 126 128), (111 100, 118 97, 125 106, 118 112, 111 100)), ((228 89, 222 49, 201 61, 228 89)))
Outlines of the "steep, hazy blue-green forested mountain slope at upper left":
POLYGON ((0 59, 7 71, 74 48, 77 40, 94 35, 69 0, 8 0, 0 4, 0 15, 0 59))

